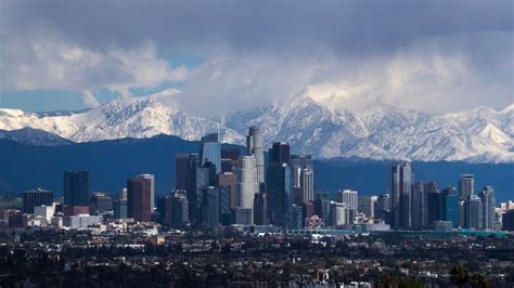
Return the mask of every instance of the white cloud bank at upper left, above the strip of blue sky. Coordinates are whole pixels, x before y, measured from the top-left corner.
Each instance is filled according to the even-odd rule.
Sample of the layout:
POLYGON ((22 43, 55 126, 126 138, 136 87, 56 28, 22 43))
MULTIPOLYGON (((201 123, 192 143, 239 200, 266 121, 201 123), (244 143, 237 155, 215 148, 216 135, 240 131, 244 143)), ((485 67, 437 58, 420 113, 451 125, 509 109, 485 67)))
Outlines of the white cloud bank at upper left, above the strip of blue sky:
POLYGON ((3 91, 107 88, 130 96, 131 88, 182 81, 188 73, 185 67, 171 68, 159 58, 151 42, 95 51, 55 34, 40 32, 35 38, 9 35, 1 41, 4 64, 0 65, 0 89, 3 91))

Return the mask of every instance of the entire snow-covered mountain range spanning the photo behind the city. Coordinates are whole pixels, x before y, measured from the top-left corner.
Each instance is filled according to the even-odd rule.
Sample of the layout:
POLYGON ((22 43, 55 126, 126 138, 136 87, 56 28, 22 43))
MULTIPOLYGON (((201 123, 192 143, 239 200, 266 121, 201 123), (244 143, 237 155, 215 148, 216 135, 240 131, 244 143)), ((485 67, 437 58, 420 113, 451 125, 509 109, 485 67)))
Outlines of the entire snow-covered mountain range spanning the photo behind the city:
POLYGON ((221 131, 223 142, 244 143, 248 126, 265 144, 288 141, 293 152, 319 158, 467 160, 514 162, 514 105, 432 116, 378 105, 363 112, 326 107, 306 94, 283 106, 261 106, 226 116, 223 126, 178 109, 175 90, 113 101, 73 114, 0 109, 0 129, 40 129, 76 142, 172 134, 187 140, 221 131))

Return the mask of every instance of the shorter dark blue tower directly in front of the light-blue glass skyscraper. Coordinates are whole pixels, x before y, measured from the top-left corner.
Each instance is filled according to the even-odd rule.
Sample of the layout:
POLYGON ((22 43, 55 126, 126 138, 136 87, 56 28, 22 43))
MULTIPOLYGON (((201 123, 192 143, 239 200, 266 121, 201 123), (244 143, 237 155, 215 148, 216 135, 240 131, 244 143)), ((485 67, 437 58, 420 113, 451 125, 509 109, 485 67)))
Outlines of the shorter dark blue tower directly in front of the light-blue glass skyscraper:
POLYGON ((217 227, 220 225, 220 193, 219 187, 205 186, 202 189, 201 225, 217 227))

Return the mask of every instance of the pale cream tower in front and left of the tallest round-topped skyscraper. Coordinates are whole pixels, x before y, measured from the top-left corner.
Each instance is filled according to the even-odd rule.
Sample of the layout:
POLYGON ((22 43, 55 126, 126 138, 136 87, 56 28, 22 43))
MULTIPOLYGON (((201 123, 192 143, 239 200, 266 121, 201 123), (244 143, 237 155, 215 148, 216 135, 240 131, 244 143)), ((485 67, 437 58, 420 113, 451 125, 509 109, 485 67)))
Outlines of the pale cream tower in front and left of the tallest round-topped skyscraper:
POLYGON ((254 156, 241 156, 237 165, 237 207, 254 208, 255 194, 259 192, 257 166, 254 156))

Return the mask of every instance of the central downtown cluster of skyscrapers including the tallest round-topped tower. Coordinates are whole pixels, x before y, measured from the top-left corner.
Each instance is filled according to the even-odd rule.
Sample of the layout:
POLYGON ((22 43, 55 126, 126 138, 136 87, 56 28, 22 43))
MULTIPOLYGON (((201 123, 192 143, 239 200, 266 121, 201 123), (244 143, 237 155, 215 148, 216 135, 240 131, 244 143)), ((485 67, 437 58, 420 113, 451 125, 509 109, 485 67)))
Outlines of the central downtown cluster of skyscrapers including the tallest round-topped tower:
POLYGON ((165 222, 172 227, 303 226, 312 214, 311 155, 291 155, 288 143, 275 142, 266 161, 257 127, 249 128, 246 152, 221 148, 213 133, 202 138, 200 153, 177 155, 176 167, 176 191, 165 200, 165 222))

